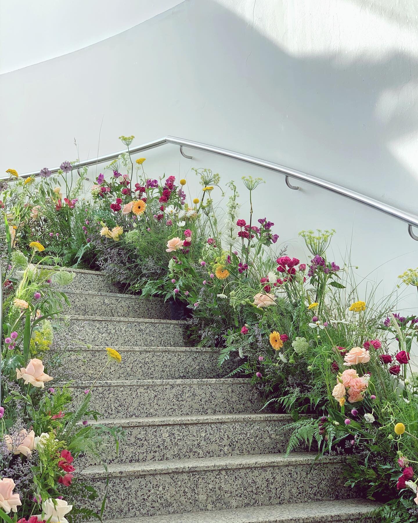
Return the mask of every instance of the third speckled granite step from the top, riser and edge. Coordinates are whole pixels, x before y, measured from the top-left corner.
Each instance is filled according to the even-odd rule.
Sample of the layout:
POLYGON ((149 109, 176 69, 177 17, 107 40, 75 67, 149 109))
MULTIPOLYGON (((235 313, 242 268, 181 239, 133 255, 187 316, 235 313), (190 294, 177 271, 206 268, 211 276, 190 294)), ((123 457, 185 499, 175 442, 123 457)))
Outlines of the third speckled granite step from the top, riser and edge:
POLYGON ((60 335, 91 345, 167 347, 188 345, 185 324, 180 320, 150 320, 112 316, 68 316, 60 335), (66 324, 68 323, 68 324, 66 324))

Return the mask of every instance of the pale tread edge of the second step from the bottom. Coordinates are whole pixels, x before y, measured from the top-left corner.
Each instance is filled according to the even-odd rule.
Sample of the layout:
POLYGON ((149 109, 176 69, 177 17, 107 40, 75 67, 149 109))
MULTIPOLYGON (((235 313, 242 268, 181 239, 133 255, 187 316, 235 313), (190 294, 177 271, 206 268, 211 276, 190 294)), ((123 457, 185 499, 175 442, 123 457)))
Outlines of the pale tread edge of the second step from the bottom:
MULTIPOLYGON (((335 463, 343 456, 327 456, 316 460, 317 452, 292 452, 278 454, 247 454, 212 458, 193 458, 167 461, 146 461, 134 463, 112 463, 108 465, 109 477, 141 476, 145 474, 168 474, 172 472, 194 472, 204 470, 246 469, 258 467, 282 467, 286 465, 311 465, 335 463)), ((102 465, 86 467, 82 471, 88 477, 106 476, 102 465)))

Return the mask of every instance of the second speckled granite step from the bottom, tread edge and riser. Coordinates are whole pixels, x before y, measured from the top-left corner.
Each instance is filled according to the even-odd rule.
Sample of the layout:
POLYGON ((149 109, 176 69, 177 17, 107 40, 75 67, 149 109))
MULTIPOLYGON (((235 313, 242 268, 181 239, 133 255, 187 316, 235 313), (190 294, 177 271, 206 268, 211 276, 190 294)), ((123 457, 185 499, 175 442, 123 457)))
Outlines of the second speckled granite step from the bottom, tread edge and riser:
MULTIPOLYGON (((344 487, 341 457, 316 453, 259 454, 108 466, 104 516, 155 516, 355 497, 344 487)), ((97 492, 106 491, 106 471, 81 473, 97 492)), ((98 505, 100 502, 98 502, 98 505)))

